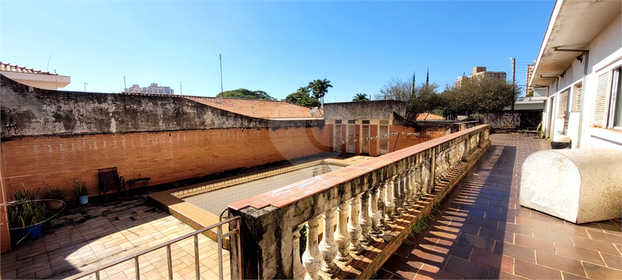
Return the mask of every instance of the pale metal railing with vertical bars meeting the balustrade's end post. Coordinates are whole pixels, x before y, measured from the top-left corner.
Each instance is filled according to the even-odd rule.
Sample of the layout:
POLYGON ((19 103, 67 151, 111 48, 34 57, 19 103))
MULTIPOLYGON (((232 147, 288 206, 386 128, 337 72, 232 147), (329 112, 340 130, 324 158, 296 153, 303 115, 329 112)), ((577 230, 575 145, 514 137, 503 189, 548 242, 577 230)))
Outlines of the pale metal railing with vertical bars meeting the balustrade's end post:
MULTIPOLYGON (((220 274, 218 275, 219 279, 223 279, 223 239, 231 236, 231 235, 235 235, 236 236, 236 244, 238 245, 238 247, 241 244, 241 239, 240 239, 240 234, 241 234, 241 217, 240 216, 234 216, 232 218, 227 218, 227 220, 225 221, 220 221, 220 223, 216 223, 214 225, 210 225, 209 227, 205 227, 201 230, 196 230, 195 232, 191 232, 189 234, 186 234, 184 236, 179 236, 176 239, 173 239, 171 241, 167 241, 166 243, 162 243, 160 245, 157 245, 156 247, 153 248, 149 248, 149 249, 145 249, 142 250, 140 252, 136 252, 134 254, 131 254, 129 256, 124 256, 121 259, 117 259, 116 261, 111 261, 110 263, 106 263, 104 265, 100 265, 97 268, 91 268, 88 270, 84 270, 83 272, 80 272, 78 274, 72 275, 70 277, 67 277, 66 280, 75 280, 75 279, 82 279, 84 277, 88 277, 91 274, 95 274, 95 279, 100 280, 100 271, 105 270, 106 268, 111 268, 115 265, 118 265, 120 263, 124 263, 126 261, 134 261, 134 268, 135 268, 135 277, 136 280, 140 280, 140 265, 138 262, 138 257, 142 256, 144 254, 147 254, 149 252, 153 252, 156 251, 158 249, 167 248, 167 265, 168 265, 168 272, 169 272, 169 279, 173 279, 173 265, 172 265, 172 260, 171 260, 171 245, 173 243, 177 243, 179 241, 182 241, 184 239, 188 239, 190 237, 194 237, 194 265, 195 265, 195 271, 196 271, 196 279, 200 280, 200 265, 199 265, 199 248, 198 248, 198 234, 202 234, 203 232, 207 232, 208 230, 213 229, 214 227, 218 227, 217 232, 218 232, 218 272, 220 272, 220 274), (223 225, 229 225, 230 223, 235 222, 235 228, 234 230, 229 230, 228 232, 225 232, 223 234, 223 230, 221 229, 221 227, 223 225)), ((237 250, 241 250, 241 248, 237 248, 237 250)), ((230 256, 232 257, 232 256, 230 256)), ((240 267, 241 265, 241 259, 236 259, 236 261, 238 262, 238 267, 240 267)))

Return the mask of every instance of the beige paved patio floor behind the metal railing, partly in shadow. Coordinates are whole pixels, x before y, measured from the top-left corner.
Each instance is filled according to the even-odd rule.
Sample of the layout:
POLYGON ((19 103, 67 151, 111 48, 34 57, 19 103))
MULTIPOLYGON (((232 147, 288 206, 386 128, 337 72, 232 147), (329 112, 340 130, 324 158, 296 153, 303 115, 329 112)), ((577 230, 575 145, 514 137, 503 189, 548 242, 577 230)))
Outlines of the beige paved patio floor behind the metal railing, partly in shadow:
MULTIPOLYGON (((3 253, 0 278, 63 279, 194 232, 185 223, 145 203, 144 196, 109 202, 106 206, 90 203, 67 212, 50 221, 57 228, 48 228, 36 241, 3 253)), ((218 279, 218 245, 199 235, 199 248, 201 278, 218 279)), ((223 252, 225 279, 229 279, 229 255, 223 252)), ((193 239, 171 245, 171 254, 173 278, 194 279, 193 239)), ((139 258, 140 279, 168 277, 166 248, 145 256, 139 258)), ((134 273, 130 261, 104 270, 101 277, 134 279, 134 273)))

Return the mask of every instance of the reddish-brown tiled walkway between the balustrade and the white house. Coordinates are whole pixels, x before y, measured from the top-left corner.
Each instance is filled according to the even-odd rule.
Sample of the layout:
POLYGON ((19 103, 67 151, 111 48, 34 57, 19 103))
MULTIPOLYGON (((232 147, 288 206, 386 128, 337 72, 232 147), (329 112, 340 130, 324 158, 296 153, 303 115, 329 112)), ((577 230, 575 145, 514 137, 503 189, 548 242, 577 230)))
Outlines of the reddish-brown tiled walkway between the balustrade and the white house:
POLYGON ((518 205, 522 162, 546 140, 493 134, 472 176, 377 279, 622 279, 621 220, 574 225, 518 205))

